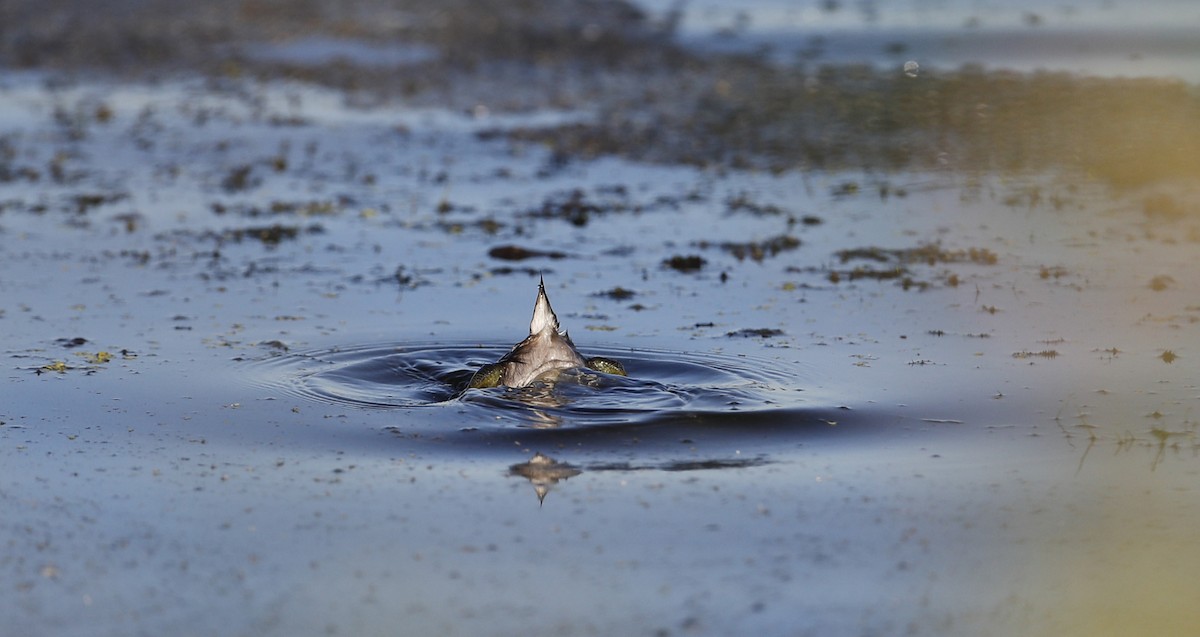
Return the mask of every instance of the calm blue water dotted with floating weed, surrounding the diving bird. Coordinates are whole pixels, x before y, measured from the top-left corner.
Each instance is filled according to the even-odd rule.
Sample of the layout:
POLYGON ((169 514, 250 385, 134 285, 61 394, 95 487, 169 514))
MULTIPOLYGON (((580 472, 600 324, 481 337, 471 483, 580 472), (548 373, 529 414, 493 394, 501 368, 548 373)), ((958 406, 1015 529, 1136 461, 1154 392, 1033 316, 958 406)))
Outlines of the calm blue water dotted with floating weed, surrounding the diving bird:
POLYGON ((558 38, 488 40, 485 78, 452 20, 386 71, 376 20, 4 73, 10 626, 1200 623, 1194 86, 701 61, 604 19, 530 18, 558 38), (596 64, 612 34, 658 56, 596 64), (463 392, 539 276, 630 378, 463 392))

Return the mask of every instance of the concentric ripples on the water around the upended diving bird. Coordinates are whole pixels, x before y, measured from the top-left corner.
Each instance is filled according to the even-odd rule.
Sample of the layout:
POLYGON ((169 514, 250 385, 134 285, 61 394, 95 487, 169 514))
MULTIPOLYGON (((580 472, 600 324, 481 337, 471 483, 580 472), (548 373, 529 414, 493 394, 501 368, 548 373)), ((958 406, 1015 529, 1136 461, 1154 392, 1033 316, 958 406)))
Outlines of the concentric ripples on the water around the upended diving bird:
POLYGON ((796 363, 722 354, 588 348, 620 360, 628 378, 589 369, 558 383, 466 390, 479 366, 509 345, 362 344, 253 362, 251 379, 292 396, 367 409, 451 408, 472 428, 563 428, 784 416, 812 408, 796 363))

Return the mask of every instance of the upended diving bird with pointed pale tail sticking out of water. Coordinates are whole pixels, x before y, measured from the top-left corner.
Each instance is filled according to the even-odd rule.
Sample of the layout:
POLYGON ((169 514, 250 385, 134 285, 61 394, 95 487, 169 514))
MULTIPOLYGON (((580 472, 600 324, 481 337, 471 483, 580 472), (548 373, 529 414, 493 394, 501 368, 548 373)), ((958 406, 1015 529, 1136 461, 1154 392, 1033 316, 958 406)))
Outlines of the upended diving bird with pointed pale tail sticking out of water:
POLYGON ((628 375, 619 362, 602 356, 584 359, 571 337, 558 329, 558 317, 550 307, 546 282, 538 282, 529 336, 512 347, 499 361, 485 365, 470 377, 468 387, 523 387, 534 380, 551 380, 563 369, 587 367, 606 374, 628 375))

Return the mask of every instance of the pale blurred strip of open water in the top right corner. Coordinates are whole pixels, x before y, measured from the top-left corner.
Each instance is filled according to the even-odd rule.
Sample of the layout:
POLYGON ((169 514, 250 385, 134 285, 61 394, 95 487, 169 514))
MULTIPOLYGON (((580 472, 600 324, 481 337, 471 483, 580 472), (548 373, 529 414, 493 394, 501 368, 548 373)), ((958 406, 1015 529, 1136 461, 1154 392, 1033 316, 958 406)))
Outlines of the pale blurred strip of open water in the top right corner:
MULTIPOLYGON (((665 16, 672 2, 640 2, 665 16)), ((1169 76, 1200 82, 1200 6, 1153 2, 785 2, 683 5, 680 37, 718 52, 766 50, 779 62, 1169 76)))

